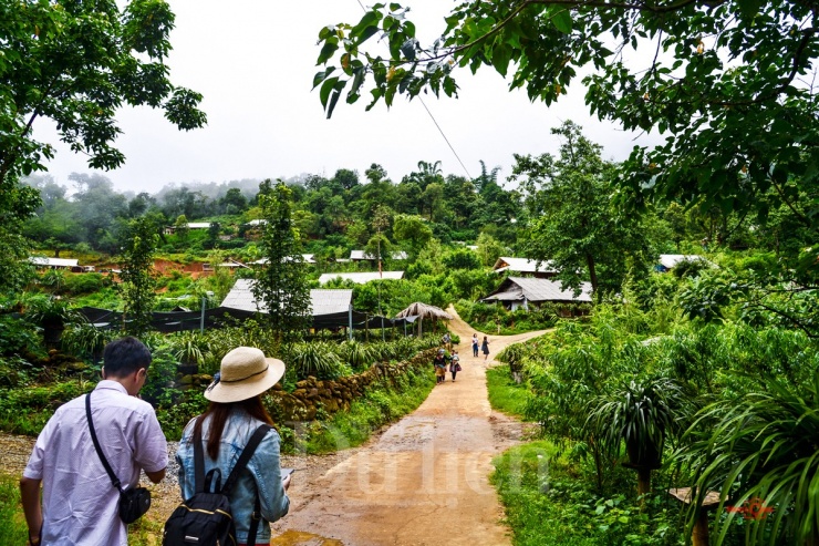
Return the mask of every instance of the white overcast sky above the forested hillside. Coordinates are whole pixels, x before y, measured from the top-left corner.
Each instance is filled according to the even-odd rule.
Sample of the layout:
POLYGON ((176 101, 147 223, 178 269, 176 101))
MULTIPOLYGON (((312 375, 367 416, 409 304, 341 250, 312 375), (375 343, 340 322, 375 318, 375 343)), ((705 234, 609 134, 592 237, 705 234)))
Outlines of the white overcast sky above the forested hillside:
MULTIPOLYGON (((363 1, 363 0, 362 0, 363 1)), ((444 29, 443 17, 456 2, 408 0, 411 19, 422 44, 444 29)), ((319 30, 359 21, 356 0, 170 0, 176 29, 168 60, 172 81, 205 95, 205 128, 179 132, 160 111, 127 109, 118 115, 124 134, 117 146, 126 155, 122 168, 105 173, 120 190, 156 192, 168 183, 228 182, 241 178, 292 177, 302 173, 332 176, 338 168, 356 169, 363 178, 373 163, 394 182, 417 168, 419 161, 442 162, 444 174, 465 175, 435 123, 417 101, 396 97, 365 112, 369 94, 359 103, 339 102, 326 120, 318 91, 311 91, 319 30)), ((373 39, 371 39, 373 40, 373 39)), ((530 103, 522 91, 508 91, 493 69, 476 76, 455 72, 460 97, 424 102, 464 162, 468 175, 500 166, 510 174, 512 154, 556 152, 549 133, 573 120, 603 145, 607 158, 624 159, 647 137, 622 132, 591 119, 578 81, 557 105, 530 103)), ((35 136, 56 142, 53 125, 41 120, 35 136)), ((90 172, 85 158, 58 146, 50 174, 70 184, 72 172, 90 172)))

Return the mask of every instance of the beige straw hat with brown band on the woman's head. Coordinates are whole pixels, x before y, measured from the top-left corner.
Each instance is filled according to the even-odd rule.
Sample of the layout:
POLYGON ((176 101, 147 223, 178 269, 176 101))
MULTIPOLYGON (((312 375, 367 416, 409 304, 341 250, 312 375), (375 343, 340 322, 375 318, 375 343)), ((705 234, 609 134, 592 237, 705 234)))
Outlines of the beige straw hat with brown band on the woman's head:
POLYGON ((214 402, 240 402, 273 387, 284 375, 284 362, 265 358, 252 347, 237 347, 221 359, 219 373, 205 391, 214 402))

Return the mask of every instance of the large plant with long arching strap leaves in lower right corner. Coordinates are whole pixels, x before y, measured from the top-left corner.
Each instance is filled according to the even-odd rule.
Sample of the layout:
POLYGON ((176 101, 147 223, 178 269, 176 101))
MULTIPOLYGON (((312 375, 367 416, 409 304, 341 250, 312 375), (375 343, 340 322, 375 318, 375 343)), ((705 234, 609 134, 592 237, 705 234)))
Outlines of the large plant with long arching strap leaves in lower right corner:
MULTIPOLYGON (((707 491, 716 490, 720 511, 729 498, 734 506, 761 501, 771 508, 756 525, 745 526, 746 544, 819 544, 819 375, 802 392, 776 380, 763 389, 704 408, 686 432, 696 439, 711 425, 675 454, 691 468, 699 497, 688 524, 707 491)), ((743 515, 748 514, 729 511, 715 519, 717 546, 743 515)))

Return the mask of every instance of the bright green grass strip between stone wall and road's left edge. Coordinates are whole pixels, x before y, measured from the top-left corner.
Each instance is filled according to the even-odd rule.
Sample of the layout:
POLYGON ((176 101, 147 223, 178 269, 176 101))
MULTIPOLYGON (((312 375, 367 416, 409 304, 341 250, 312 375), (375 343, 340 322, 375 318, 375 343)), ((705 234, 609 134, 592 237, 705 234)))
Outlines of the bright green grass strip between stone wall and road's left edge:
POLYGON ((355 447, 383 425, 415 411, 434 387, 435 377, 428 370, 408 370, 394 387, 371 390, 350 410, 313 421, 307 431, 281 431, 283 444, 311 455, 355 447))

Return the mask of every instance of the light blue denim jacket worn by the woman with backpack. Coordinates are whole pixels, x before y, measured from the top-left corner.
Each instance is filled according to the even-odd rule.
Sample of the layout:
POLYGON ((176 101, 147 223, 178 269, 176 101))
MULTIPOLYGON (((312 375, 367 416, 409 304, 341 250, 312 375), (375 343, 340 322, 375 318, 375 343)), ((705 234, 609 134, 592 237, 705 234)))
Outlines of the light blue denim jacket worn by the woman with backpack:
MULTIPOLYGON (((191 420, 185 426, 179 449, 176 452, 176 461, 179 463, 179 487, 182 488, 182 497, 185 499, 194 496, 196 488, 193 445, 195 421, 195 419, 191 420)), ((243 410, 235 410, 225 423, 218 460, 212 461, 208 456, 206 446, 210 429, 210 418, 206 418, 203 423, 205 473, 207 474, 210 468, 218 467, 221 471, 221 483, 224 484, 239 460, 242 449, 260 424, 262 424, 261 421, 251 418, 243 410)), ((269 522, 276 522, 282 517, 290 507, 290 499, 281 485, 279 434, 274 430, 265 435, 230 492, 230 512, 234 516, 236 539, 239 544, 247 544, 250 516, 257 496, 261 502, 262 521, 256 540, 257 543, 267 543, 270 542, 269 522)))

